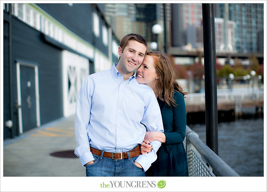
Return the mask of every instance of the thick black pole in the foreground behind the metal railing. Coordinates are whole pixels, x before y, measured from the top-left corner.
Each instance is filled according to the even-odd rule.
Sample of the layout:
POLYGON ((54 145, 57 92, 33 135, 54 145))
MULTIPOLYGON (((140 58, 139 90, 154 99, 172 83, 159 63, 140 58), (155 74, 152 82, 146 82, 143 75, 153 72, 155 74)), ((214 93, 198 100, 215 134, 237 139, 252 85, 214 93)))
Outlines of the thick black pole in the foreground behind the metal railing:
POLYGON ((202 4, 206 143, 218 155, 218 106, 215 49, 214 4, 202 4))

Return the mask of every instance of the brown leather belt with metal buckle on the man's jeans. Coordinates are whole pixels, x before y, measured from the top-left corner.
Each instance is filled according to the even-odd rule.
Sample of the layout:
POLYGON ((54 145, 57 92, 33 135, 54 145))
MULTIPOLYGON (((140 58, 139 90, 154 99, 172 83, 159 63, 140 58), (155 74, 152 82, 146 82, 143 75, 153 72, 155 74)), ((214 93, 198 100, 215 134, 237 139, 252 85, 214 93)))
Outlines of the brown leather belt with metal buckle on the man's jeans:
MULTIPOLYGON (((100 151, 98 149, 95 149, 93 147, 90 147, 90 150, 91 150, 92 154, 95 154, 95 155, 98 155, 98 156, 100 156, 101 152, 102 152, 102 151, 100 151)), ((137 157, 138 155, 141 154, 140 145, 138 145, 137 147, 135 147, 134 149, 132 149, 131 151, 128 151, 128 152, 129 152, 130 158, 131 157, 137 157)), ((108 157, 108 158, 111 158, 111 159, 125 159, 125 158, 128 158, 127 152, 110 153, 110 152, 106 152, 106 151, 103 152, 103 157, 108 157)))

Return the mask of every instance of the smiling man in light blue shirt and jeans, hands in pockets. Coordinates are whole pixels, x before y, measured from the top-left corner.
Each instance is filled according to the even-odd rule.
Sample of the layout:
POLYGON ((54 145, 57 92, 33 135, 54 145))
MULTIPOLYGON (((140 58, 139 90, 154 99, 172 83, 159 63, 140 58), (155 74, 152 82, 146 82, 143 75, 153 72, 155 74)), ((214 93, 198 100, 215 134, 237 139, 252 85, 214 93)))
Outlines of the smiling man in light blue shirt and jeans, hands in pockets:
POLYGON ((86 77, 76 101, 75 154, 86 176, 145 176, 161 142, 140 155, 146 131, 163 132, 153 90, 136 81, 135 70, 147 53, 147 41, 128 34, 120 42, 118 63, 86 77))

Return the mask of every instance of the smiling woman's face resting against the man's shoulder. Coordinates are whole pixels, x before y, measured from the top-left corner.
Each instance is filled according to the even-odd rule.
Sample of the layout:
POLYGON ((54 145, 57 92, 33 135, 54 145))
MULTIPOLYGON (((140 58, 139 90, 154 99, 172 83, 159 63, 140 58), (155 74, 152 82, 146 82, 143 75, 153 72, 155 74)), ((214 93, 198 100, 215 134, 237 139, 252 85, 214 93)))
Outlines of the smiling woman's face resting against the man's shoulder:
POLYGON ((137 69, 137 82, 147 84, 152 89, 156 87, 158 74, 156 72, 153 56, 146 55, 142 64, 137 69))

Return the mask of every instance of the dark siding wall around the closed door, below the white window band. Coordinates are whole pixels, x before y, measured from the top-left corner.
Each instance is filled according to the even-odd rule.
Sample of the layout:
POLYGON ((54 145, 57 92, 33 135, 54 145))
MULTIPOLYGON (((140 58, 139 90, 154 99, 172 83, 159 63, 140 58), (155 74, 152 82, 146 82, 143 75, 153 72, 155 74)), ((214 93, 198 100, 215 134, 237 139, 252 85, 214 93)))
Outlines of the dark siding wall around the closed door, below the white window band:
MULTIPOLYGON (((4 14, 7 15, 7 13, 4 14)), ((8 48, 5 45, 4 47, 8 48)), ((25 64, 36 64, 39 68, 39 104, 40 116, 42 117, 40 123, 45 124, 61 118, 63 116, 61 51, 59 48, 44 42, 39 31, 12 16, 12 98, 9 101, 10 95, 8 91, 5 91, 3 93, 4 101, 14 104, 14 101, 18 100, 17 84, 19 80, 17 79, 16 63, 23 61, 25 64)), ((9 63, 6 62, 7 56, 5 55, 5 69, 8 69, 9 66, 9 63)), ((5 70, 4 90, 9 90, 8 73, 9 70, 5 70)), ((7 108, 9 105, 5 106, 4 110, 7 108)), ((13 107, 13 112, 14 128, 18 129, 16 127, 19 124, 18 110, 13 107)), ((6 119, 8 119, 8 114, 4 113, 4 120, 6 119)), ((5 133, 6 137, 10 136, 7 131, 5 133)), ((16 130, 15 133, 18 135, 19 131, 16 130)))

